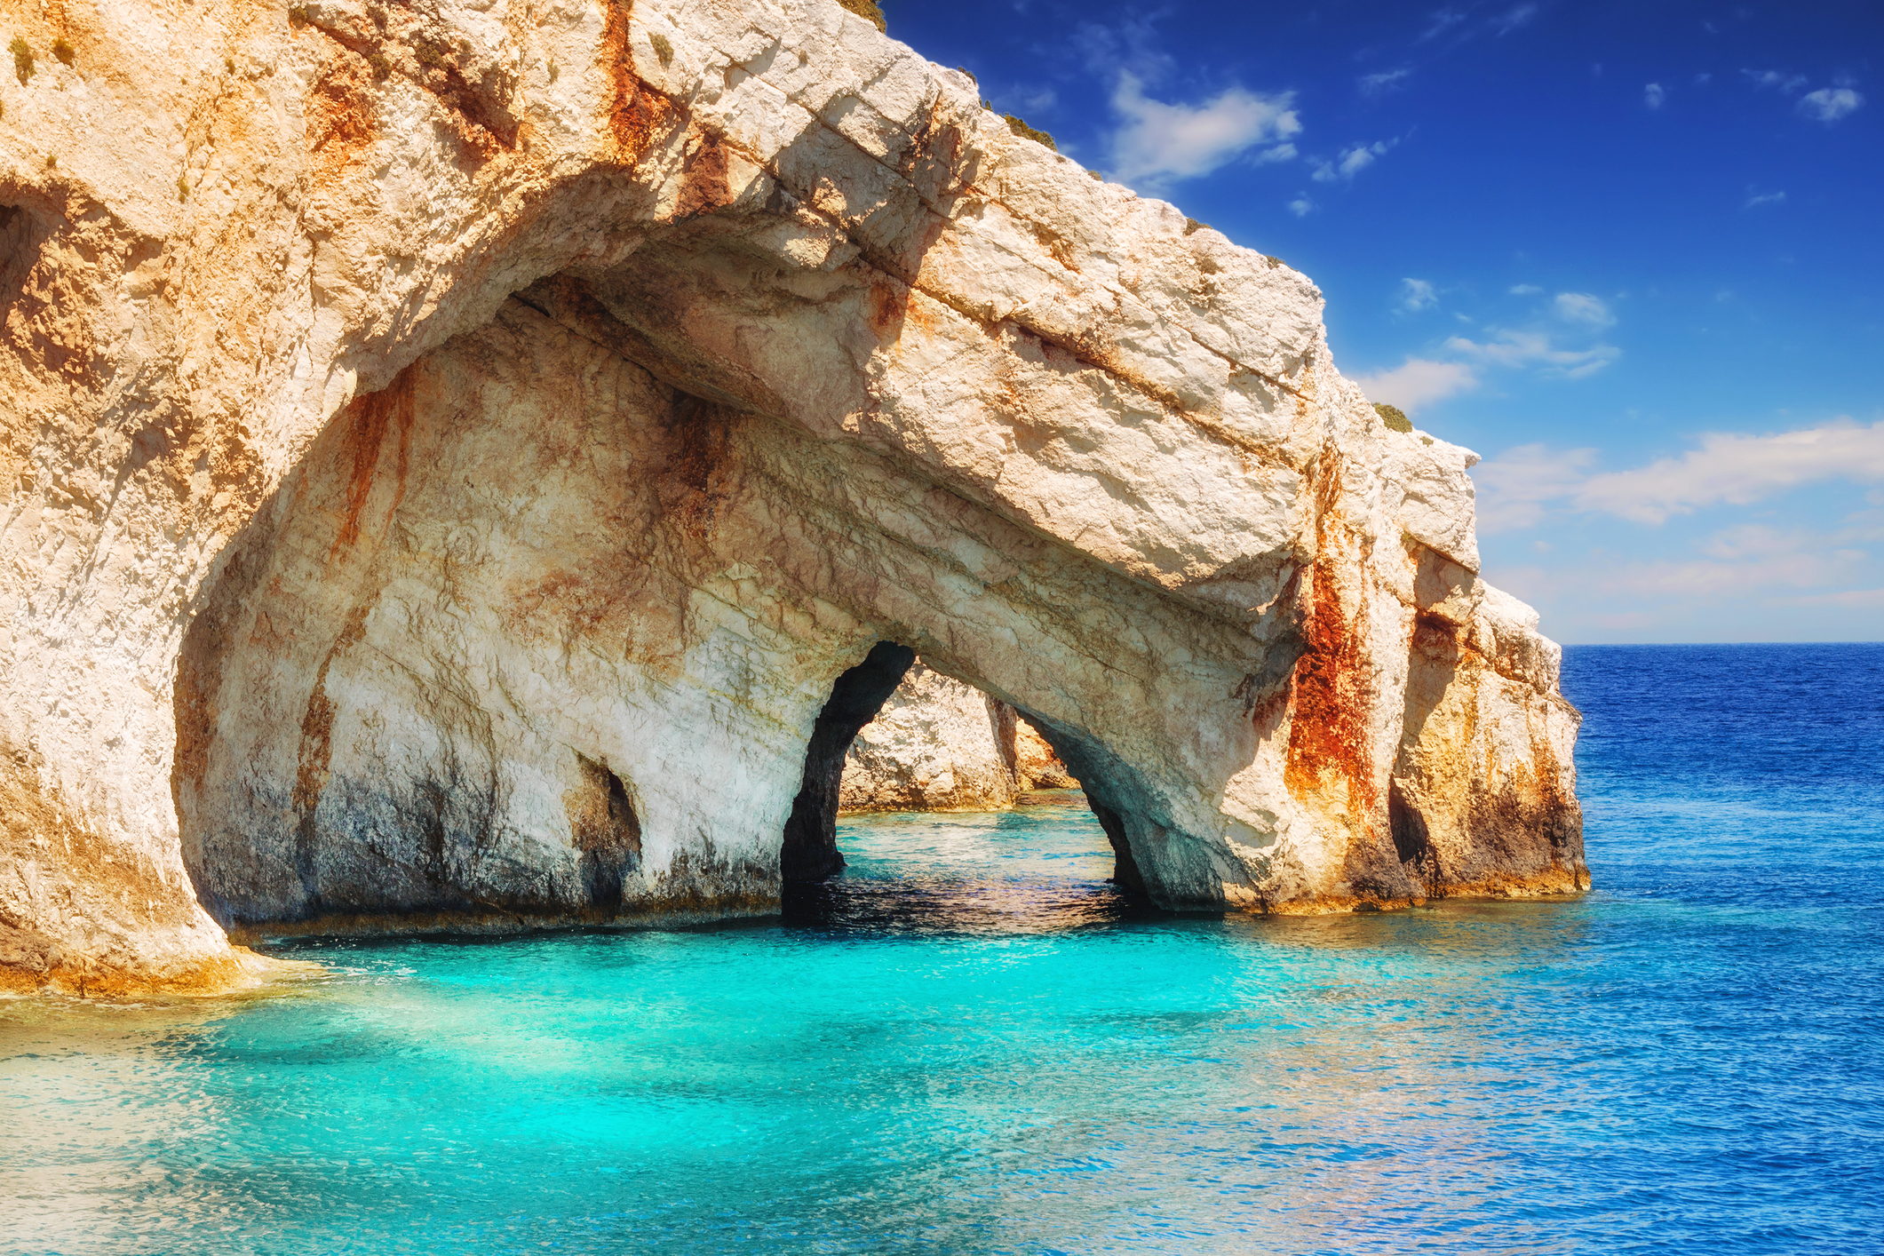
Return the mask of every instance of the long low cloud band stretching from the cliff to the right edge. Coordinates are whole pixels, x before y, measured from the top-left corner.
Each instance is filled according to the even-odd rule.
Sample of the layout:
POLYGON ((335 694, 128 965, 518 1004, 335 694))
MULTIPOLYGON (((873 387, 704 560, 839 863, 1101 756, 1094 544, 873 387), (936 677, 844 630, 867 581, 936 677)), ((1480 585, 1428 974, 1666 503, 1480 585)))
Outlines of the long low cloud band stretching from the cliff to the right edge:
MULTIPOLYGON (((1841 418, 1818 427, 1775 435, 1709 433, 1679 458, 1660 458, 1630 471, 1590 473, 1596 452, 1520 444, 1486 459, 1475 473, 1485 490, 1479 505, 1488 527, 1534 527, 1549 508, 1613 514, 1658 525, 1677 514, 1733 505, 1748 507, 1807 484, 1848 480, 1884 482, 1884 422, 1871 426, 1841 418)), ((1720 540, 1741 546, 1714 557, 1741 557, 1746 537, 1720 540)))

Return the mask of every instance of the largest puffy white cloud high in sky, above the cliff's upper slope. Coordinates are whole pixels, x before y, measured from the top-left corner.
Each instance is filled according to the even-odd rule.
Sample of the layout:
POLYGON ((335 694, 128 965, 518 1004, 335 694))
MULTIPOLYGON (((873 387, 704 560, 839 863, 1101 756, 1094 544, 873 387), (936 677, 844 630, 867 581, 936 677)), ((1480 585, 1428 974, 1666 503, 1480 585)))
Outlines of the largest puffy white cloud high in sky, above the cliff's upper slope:
POLYGON ((1174 105, 1145 96, 1138 75, 1121 72, 1112 107, 1125 124, 1112 137, 1113 171, 1125 183, 1193 179, 1259 145, 1275 145, 1262 160, 1287 160, 1294 147, 1285 141, 1302 132, 1292 105, 1294 92, 1262 96, 1242 87, 1202 105, 1174 105))

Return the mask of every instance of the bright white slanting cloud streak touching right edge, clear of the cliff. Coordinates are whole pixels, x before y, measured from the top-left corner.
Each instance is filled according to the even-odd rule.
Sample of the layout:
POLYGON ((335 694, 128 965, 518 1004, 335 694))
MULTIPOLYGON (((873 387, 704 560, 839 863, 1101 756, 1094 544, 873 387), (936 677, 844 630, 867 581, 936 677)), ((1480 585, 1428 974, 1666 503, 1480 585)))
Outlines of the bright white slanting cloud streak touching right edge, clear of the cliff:
POLYGON ((1820 480, 1884 480, 1884 422, 1850 420, 1769 437, 1709 433, 1701 448, 1633 471, 1592 476, 1577 490, 1583 510, 1662 523, 1673 514, 1762 497, 1820 480))

